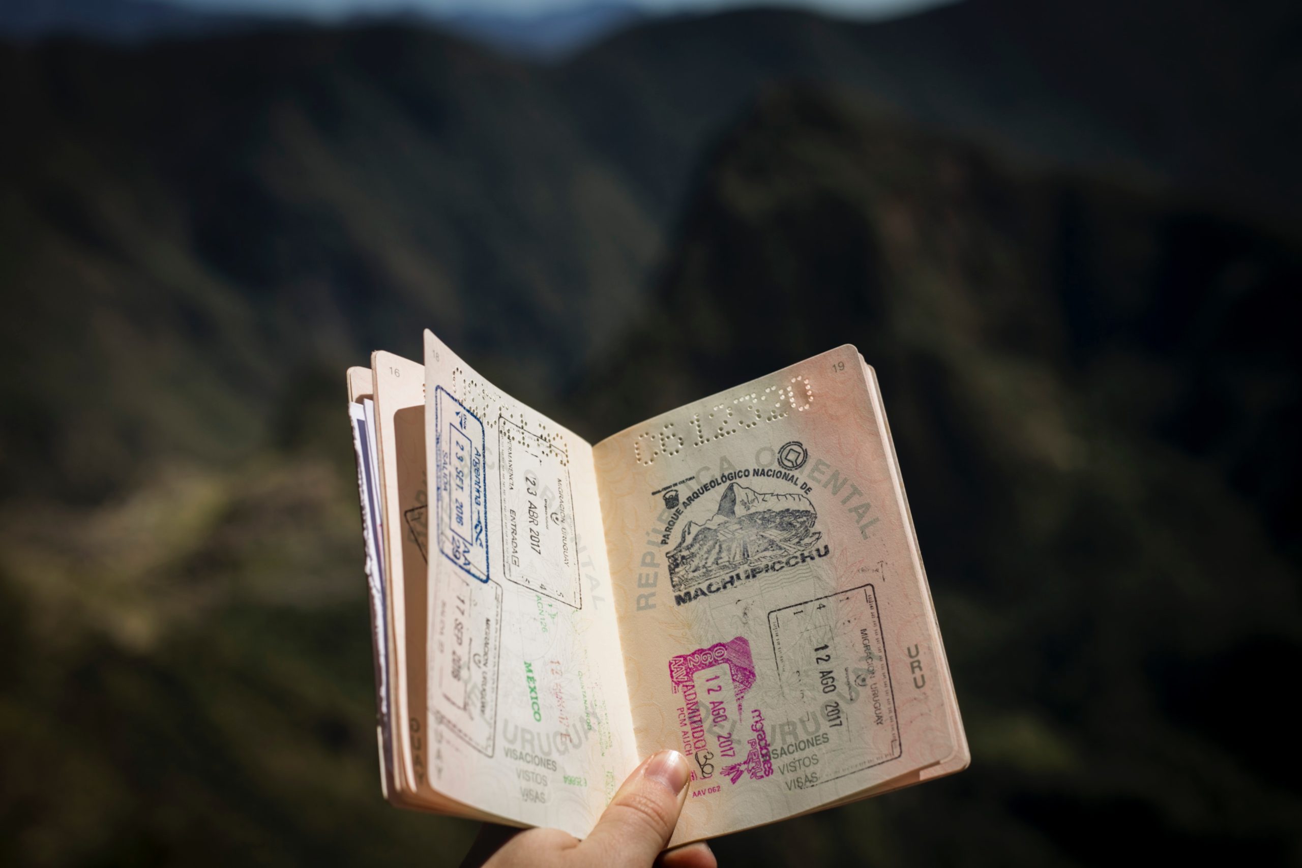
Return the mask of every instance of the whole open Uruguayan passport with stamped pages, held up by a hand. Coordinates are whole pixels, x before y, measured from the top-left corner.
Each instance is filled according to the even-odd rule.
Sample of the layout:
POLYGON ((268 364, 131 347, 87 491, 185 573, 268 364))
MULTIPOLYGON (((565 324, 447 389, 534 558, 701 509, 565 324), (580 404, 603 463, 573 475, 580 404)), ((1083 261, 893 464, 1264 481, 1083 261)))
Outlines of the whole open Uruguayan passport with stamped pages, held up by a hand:
POLYGON ((389 802, 585 837, 676 748, 676 846, 967 766, 853 346, 598 444, 423 362, 348 371, 389 802))

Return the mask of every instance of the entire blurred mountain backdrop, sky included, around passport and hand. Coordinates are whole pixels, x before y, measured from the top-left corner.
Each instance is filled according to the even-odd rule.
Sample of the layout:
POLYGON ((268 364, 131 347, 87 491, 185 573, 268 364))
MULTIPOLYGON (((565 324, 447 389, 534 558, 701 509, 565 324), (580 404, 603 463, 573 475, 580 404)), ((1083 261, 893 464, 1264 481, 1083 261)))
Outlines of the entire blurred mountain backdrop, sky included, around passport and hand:
POLYGON ((1302 864, 1299 154, 1292 3, 0 0, 0 863, 460 860, 344 410, 428 327, 592 440, 876 367, 973 766, 724 865, 1302 864))

